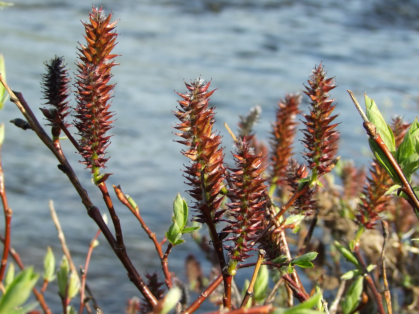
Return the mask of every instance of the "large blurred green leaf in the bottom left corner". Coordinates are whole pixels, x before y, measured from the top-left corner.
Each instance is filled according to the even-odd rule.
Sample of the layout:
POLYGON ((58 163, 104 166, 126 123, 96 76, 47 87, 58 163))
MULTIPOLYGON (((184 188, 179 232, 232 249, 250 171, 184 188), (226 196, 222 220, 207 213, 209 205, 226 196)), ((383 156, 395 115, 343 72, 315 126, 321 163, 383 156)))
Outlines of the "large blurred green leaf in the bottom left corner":
POLYGON ((0 314, 9 314, 26 302, 39 275, 32 266, 22 270, 13 279, 0 300, 0 314))

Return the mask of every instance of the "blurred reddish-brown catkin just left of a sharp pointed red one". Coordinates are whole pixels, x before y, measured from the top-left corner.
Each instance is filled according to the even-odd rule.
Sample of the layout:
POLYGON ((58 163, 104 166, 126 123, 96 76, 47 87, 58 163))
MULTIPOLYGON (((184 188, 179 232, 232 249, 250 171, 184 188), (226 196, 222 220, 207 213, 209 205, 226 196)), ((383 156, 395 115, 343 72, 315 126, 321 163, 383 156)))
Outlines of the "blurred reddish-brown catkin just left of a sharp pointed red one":
POLYGON ((287 176, 288 160, 292 156, 292 143, 297 132, 297 115, 301 113, 299 105, 301 95, 286 95, 279 100, 276 120, 272 125, 271 165, 272 184, 283 185, 287 176))

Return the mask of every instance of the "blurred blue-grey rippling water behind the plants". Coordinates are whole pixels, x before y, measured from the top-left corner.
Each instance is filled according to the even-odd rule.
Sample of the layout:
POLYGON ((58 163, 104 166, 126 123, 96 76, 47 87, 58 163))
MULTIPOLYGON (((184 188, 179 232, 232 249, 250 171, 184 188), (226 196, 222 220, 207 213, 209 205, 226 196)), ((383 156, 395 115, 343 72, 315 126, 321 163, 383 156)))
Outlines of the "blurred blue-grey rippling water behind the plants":
MULTIPOLYGON (((184 92, 184 80, 202 75, 219 88, 211 105, 217 107, 216 127, 222 134, 224 122, 235 129, 238 114, 259 104, 263 111, 256 129, 259 139, 266 140, 279 98, 303 89, 313 67, 323 62, 339 85, 331 92, 342 122, 339 155, 357 165, 367 164, 367 141, 346 89, 360 102, 366 91, 387 119, 398 113, 413 121, 417 114, 419 1, 102 0, 93 5, 101 4, 106 13, 113 11, 113 20, 119 19, 114 52, 121 54, 116 59, 120 65, 113 68, 117 85, 111 109, 117 120, 107 171, 115 174, 108 184, 120 184, 137 201, 160 237, 171 223, 173 198, 186 189, 181 169, 189 161, 179 152, 183 147, 173 142, 171 128, 176 124, 171 110, 179 99, 173 90, 184 92)), ((8 83, 34 110, 44 102, 39 82, 45 61, 63 56, 69 72, 75 71, 77 42, 84 43, 80 20, 87 20, 91 7, 85 0, 21 0, 0 10, 0 53, 8 83)), ((75 106, 74 99, 70 104, 75 106)), ((61 258, 47 205, 52 199, 75 263, 84 264, 96 225, 35 134, 8 123, 21 117, 16 106, 7 103, 0 117, 6 124, 2 162, 13 209, 12 245, 39 271, 47 245, 61 258)), ((77 164, 75 149, 63 146, 93 202, 104 211, 90 174, 77 164)), ((228 135, 224 146, 226 153, 233 149, 228 135)), ((296 151, 302 147, 295 144, 296 151)), ((134 265, 140 273, 159 270, 140 225, 115 204, 134 265)), ((88 284, 105 313, 121 313, 126 300, 139 293, 100 240, 88 284)), ((183 256, 196 250, 191 239, 176 247, 169 258, 171 270, 183 278, 183 256)), ((56 287, 46 296, 58 313, 56 287)))

